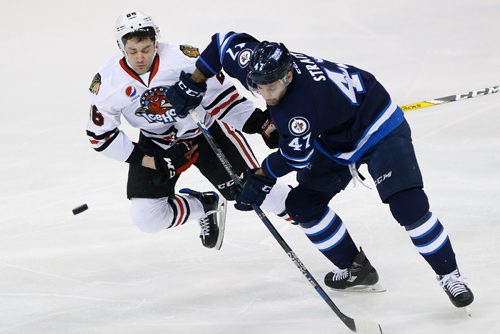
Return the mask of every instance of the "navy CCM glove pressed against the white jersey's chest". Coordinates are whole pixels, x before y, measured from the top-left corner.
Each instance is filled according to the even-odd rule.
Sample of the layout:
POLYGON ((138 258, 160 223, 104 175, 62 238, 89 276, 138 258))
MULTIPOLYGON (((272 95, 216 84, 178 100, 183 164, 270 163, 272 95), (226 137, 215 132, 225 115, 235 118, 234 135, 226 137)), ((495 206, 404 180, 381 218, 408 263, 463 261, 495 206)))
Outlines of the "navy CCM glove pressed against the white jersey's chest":
POLYGON ((191 74, 182 71, 179 81, 167 90, 165 96, 177 116, 184 118, 189 114, 189 110, 200 105, 206 91, 206 83, 195 82, 191 79, 191 74))

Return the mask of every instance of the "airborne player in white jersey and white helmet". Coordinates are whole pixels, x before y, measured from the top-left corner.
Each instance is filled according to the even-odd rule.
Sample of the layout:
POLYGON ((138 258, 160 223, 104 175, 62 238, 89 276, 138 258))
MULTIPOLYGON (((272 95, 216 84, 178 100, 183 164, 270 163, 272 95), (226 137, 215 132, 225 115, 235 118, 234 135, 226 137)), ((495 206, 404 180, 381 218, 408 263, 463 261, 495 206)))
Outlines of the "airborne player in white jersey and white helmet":
MULTIPOLYGON (((233 199, 231 178, 196 123, 177 117, 165 97, 181 72, 194 71, 198 49, 158 42, 158 26, 139 11, 121 15, 115 33, 122 55, 107 61, 90 86, 90 143, 105 156, 129 163, 127 197, 140 230, 153 233, 198 221, 203 245, 220 249, 226 199, 233 199), (120 130, 122 116, 140 129, 137 143, 120 130), (223 197, 191 189, 175 193, 180 174, 193 164, 223 197)), ((240 130, 260 133, 269 147, 277 147, 268 114, 239 95, 222 72, 208 80, 195 111, 238 174, 259 167, 240 130)), ((288 191, 285 184, 274 187, 263 209, 283 216, 288 191)))

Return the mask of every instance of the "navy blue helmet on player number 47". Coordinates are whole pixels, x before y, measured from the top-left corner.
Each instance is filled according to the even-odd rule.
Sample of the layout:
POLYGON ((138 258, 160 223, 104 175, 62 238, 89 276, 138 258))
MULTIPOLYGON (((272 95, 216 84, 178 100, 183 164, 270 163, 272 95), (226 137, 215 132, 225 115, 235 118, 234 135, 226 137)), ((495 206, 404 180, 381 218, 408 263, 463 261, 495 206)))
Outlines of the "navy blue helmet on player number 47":
POLYGON ((292 56, 283 43, 260 42, 250 57, 248 79, 258 85, 273 83, 285 77, 291 62, 292 56))

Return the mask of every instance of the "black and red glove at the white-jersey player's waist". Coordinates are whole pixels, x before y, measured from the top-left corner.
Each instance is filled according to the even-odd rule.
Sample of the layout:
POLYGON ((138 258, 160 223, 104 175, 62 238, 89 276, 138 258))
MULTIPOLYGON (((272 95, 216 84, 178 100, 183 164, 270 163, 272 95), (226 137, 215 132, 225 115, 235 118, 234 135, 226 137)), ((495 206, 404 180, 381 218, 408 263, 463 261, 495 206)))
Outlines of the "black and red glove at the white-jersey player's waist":
POLYGON ((166 151, 157 151, 154 155, 156 170, 160 172, 158 183, 173 178, 184 172, 198 160, 197 146, 189 142, 179 142, 166 151))

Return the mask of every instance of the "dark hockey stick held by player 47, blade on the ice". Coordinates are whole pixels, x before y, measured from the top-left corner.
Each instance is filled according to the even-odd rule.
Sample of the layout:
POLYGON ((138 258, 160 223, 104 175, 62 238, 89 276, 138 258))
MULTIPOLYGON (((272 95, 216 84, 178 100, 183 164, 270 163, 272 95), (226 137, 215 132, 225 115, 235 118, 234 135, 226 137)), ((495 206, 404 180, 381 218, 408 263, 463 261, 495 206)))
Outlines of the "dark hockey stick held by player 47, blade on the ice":
MULTIPOLYGON (((239 179, 238 175, 233 170, 233 167, 231 166, 231 163, 229 160, 226 158, 225 154, 222 152, 222 150, 219 148, 217 143, 215 142, 215 139, 213 138, 212 134, 208 130, 208 128, 205 126, 203 122, 201 122, 200 117, 198 116, 197 112, 194 111, 193 109, 189 111, 191 117, 193 120, 196 122, 198 125, 198 128, 201 130, 203 133, 203 136, 207 140, 208 144, 214 151, 214 153, 217 155, 217 158, 219 161, 222 163, 224 166, 224 169, 226 172, 229 174, 231 179, 233 180, 235 185, 242 186, 242 182, 239 179)), ((256 205, 252 205, 252 209, 257 213, 259 216, 260 220, 264 223, 264 225, 267 227, 269 232, 274 236, 276 241, 280 244, 280 246, 283 248, 283 250, 287 253, 288 257, 295 263, 297 268, 302 272, 302 274, 306 277, 306 279, 311 283, 311 285, 314 287, 316 292, 323 298, 323 300, 330 306, 330 308, 335 312, 335 314, 342 320, 342 322, 353 332, 360 332, 360 333, 367 333, 367 334, 379 334, 382 333, 382 328, 380 325, 376 322, 373 321, 366 321, 366 320, 355 320, 344 313, 340 311, 340 309, 335 305, 335 303, 328 297, 326 294, 325 290, 318 284, 316 279, 311 275, 309 270, 304 266, 304 264, 299 260, 297 255, 293 252, 293 250, 288 246, 286 241, 283 239, 283 237, 278 233, 276 228, 273 226, 273 224, 269 221, 269 218, 264 214, 262 209, 256 205)))

